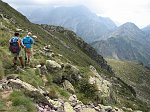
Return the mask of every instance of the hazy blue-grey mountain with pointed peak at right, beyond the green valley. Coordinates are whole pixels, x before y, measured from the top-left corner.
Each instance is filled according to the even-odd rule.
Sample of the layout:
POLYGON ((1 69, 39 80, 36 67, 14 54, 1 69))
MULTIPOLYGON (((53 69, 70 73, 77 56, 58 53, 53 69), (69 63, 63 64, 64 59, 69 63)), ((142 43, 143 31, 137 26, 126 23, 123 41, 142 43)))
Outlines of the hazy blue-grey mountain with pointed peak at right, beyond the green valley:
POLYGON ((133 23, 123 24, 107 38, 91 44, 99 54, 109 58, 137 60, 149 66, 149 39, 133 23))

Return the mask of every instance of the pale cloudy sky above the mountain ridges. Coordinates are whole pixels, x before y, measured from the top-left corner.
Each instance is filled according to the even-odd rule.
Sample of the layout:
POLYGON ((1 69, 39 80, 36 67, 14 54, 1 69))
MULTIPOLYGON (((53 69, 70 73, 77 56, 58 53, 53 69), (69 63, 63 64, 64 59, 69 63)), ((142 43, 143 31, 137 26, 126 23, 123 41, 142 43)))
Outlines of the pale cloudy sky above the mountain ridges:
POLYGON ((3 0, 15 9, 22 6, 84 5, 92 12, 109 17, 114 22, 133 22, 139 28, 150 24, 150 0, 3 0))

